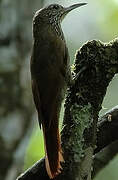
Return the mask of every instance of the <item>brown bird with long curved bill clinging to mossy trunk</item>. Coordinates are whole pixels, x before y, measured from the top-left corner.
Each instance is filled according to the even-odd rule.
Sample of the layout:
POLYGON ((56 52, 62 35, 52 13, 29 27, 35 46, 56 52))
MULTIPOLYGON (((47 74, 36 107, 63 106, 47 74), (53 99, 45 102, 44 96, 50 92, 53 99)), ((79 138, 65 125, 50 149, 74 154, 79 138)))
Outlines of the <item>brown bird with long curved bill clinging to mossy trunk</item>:
POLYGON ((43 130, 45 166, 50 179, 62 172, 64 162, 59 134, 59 116, 67 87, 72 83, 69 52, 61 22, 73 9, 50 4, 33 17, 33 45, 30 61, 31 86, 39 126, 43 130))

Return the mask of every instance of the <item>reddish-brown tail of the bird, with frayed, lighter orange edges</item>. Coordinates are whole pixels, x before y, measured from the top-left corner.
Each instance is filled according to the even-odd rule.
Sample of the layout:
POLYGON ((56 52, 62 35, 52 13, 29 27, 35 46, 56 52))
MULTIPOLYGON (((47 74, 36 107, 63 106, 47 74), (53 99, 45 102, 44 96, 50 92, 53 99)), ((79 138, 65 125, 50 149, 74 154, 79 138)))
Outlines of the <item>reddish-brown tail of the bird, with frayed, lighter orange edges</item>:
POLYGON ((62 167, 61 162, 64 162, 59 129, 58 127, 51 126, 48 129, 45 129, 44 124, 43 133, 44 133, 44 141, 45 141, 45 165, 47 173, 50 179, 56 177, 59 173, 61 173, 62 167))

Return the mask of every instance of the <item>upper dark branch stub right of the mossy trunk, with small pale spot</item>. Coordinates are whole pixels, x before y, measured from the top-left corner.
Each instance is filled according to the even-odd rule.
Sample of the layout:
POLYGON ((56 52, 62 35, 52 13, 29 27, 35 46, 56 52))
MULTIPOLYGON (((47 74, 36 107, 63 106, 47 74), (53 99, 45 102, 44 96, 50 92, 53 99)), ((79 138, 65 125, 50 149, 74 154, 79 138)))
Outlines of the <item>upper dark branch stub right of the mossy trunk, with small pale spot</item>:
POLYGON ((118 106, 105 113, 98 122, 97 148, 95 154, 118 140, 118 106))

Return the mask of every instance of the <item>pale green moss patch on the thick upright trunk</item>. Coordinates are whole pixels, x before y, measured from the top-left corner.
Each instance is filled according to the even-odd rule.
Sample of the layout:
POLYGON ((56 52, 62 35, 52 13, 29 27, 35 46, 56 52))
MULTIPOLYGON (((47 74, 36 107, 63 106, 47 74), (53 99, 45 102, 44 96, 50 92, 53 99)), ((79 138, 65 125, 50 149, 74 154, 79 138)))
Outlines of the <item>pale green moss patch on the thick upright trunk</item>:
POLYGON ((71 137, 69 144, 74 152, 75 161, 80 161, 84 155, 84 131, 89 128, 92 123, 91 104, 80 106, 72 105, 71 114, 73 118, 73 126, 71 127, 71 137))

